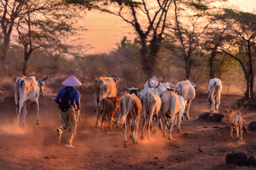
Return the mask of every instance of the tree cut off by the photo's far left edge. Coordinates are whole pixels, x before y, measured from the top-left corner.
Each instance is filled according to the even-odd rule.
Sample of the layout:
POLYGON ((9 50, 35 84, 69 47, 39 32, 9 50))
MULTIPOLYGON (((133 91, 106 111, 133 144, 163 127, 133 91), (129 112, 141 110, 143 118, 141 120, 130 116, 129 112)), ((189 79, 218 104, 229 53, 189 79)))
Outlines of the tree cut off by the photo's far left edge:
POLYGON ((0 69, 5 67, 5 60, 7 55, 7 50, 10 45, 10 36, 15 25, 15 19, 22 11, 24 3, 19 0, 2 1, 0 0, 0 24, 3 34, 3 44, 1 45, 0 54, 0 69))

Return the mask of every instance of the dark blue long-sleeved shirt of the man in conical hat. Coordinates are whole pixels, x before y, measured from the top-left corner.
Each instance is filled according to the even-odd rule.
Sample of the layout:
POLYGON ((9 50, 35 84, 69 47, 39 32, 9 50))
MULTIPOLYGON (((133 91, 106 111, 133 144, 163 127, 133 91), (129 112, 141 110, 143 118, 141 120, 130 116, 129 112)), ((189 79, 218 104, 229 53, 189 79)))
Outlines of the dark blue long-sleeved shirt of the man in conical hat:
POLYGON ((70 91, 69 92, 70 104, 75 106, 75 103, 73 103, 73 101, 75 99, 77 107, 80 107, 79 91, 77 91, 75 88, 70 87, 70 86, 61 88, 61 90, 59 91, 59 93, 57 94, 57 96, 55 98, 56 103, 60 104, 60 100, 62 99, 62 97, 64 96, 64 94, 66 92, 65 88, 66 88, 67 91, 70 91))

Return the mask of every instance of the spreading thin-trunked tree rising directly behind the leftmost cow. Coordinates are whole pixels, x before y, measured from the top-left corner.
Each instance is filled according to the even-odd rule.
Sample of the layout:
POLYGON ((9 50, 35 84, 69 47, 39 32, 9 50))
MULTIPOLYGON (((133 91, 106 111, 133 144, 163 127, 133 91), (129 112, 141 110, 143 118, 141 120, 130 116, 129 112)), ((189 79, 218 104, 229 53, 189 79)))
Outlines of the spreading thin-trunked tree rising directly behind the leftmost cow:
POLYGON ((72 8, 65 8, 65 4, 59 1, 41 2, 39 0, 27 1, 21 0, 23 3, 23 10, 19 15, 19 20, 17 23, 18 37, 22 45, 24 46, 24 65, 23 65, 23 75, 26 75, 27 61, 34 49, 40 48, 41 45, 34 46, 35 42, 35 30, 32 27, 36 27, 36 23, 40 20, 52 20, 61 17, 70 19, 71 16, 76 16, 75 14, 69 12, 72 8), (52 12, 54 11, 54 13, 52 12), (63 12, 65 12, 63 14, 63 12), (69 12, 69 14, 68 14, 69 12), (49 16, 50 15, 50 16, 49 16))

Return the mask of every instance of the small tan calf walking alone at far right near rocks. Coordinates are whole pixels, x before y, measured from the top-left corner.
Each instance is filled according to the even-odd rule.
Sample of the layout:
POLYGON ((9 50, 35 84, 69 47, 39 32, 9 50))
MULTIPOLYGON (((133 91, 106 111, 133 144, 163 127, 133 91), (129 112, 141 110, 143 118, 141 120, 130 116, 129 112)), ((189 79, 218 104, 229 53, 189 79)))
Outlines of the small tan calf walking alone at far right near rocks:
POLYGON ((245 124, 245 120, 243 120, 242 113, 240 111, 233 111, 233 110, 228 110, 229 112, 229 128, 230 128, 230 138, 233 137, 233 127, 237 131, 237 139, 239 140, 239 131, 241 134, 241 142, 243 142, 243 123, 245 124))

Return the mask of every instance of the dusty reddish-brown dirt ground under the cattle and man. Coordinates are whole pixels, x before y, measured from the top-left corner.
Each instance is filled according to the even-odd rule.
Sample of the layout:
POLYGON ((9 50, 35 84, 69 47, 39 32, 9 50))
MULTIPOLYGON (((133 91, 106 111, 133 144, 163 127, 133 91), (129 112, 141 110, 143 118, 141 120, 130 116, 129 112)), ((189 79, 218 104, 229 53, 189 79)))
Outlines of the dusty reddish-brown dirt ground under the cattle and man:
MULTIPOLYGON (((52 89, 58 91, 60 87, 55 85, 52 89)), ((16 125, 14 97, 6 97, 5 102, 0 103, 0 169, 253 169, 226 164, 225 156, 232 151, 245 152, 248 156, 256 154, 252 149, 256 145, 255 133, 243 132, 243 142, 240 142, 235 132, 234 137, 229 138, 225 118, 218 123, 198 120, 201 113, 210 111, 207 94, 196 95, 189 112, 191 120, 181 121, 181 133, 175 128, 172 140, 163 139, 162 130, 158 129, 156 135, 151 136, 153 141, 139 139, 139 144, 135 145, 128 138, 128 147, 123 148, 123 132, 119 128, 114 126, 108 130, 107 123, 104 131, 94 127, 96 112, 92 91, 88 88, 79 88, 79 91, 82 123, 77 125, 75 148, 65 148, 67 131, 60 144, 55 143, 59 111, 52 97, 39 97, 41 125, 35 124, 36 114, 30 107, 23 129, 16 125), (203 152, 199 152, 199 147, 203 152), (51 159, 46 159, 47 156, 51 159), (159 159, 154 159, 155 156, 159 159)), ((220 112, 227 116, 224 111, 234 108, 240 98, 223 95, 220 112)), ((254 115, 254 110, 243 113, 246 126, 256 121, 254 115)), ((141 126, 142 119, 139 135, 141 126)))

